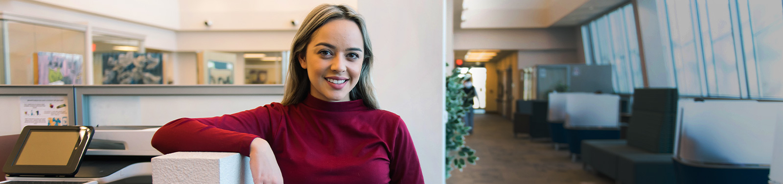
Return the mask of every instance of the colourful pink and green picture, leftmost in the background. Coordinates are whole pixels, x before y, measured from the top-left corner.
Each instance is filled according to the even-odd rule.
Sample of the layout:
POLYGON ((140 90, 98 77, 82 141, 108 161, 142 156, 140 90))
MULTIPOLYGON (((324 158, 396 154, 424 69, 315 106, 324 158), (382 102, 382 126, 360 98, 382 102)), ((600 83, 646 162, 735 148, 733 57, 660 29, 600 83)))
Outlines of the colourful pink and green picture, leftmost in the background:
POLYGON ((81 85, 84 81, 81 55, 37 52, 33 60, 37 85, 81 85))

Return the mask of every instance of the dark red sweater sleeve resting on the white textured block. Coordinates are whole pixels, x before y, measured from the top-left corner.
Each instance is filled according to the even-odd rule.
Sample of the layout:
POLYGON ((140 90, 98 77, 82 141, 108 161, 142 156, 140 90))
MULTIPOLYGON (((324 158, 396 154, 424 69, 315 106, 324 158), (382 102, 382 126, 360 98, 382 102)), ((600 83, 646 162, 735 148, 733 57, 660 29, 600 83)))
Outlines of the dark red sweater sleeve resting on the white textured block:
POLYGON ((253 139, 271 137, 269 109, 272 106, 259 106, 219 117, 179 118, 155 132, 152 146, 164 154, 206 151, 249 156, 253 139))

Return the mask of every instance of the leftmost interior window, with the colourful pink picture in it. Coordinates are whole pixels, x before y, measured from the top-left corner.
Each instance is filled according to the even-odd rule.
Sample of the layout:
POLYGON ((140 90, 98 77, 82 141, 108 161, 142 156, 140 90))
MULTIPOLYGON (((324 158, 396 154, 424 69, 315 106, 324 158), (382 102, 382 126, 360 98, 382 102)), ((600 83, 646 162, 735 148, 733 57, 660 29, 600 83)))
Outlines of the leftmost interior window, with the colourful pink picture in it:
POLYGON ((5 21, 5 27, 2 28, 8 32, 8 53, 5 53, 8 56, 5 58, 9 59, 6 66, 10 69, 10 84, 35 85, 39 83, 36 77, 50 79, 50 82, 63 81, 64 84, 84 81, 85 70, 81 64, 85 54, 83 31, 5 21), (41 52, 51 52, 54 55, 50 55, 51 58, 41 58, 41 61, 49 63, 41 66, 49 67, 49 70, 41 70, 37 66, 36 59, 41 52), (68 64, 69 61, 78 64, 68 64), (45 72, 38 74, 38 71, 45 72))

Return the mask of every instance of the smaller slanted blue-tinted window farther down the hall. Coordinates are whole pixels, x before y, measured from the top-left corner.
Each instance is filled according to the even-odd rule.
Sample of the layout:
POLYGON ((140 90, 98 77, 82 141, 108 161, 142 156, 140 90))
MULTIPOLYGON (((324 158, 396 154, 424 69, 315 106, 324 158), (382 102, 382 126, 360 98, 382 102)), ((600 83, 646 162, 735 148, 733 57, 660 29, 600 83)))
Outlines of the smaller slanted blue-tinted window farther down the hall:
POLYGON ((616 93, 644 87, 633 6, 624 5, 582 26, 587 64, 612 65, 616 93))

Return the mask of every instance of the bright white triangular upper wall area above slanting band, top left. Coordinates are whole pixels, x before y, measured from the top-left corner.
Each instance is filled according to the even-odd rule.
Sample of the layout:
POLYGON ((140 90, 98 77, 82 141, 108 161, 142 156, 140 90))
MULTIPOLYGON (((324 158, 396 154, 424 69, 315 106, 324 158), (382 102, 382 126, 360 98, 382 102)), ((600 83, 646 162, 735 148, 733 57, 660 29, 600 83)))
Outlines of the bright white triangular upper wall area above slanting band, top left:
POLYGON ((179 0, 33 0, 67 9, 179 29, 179 0))

